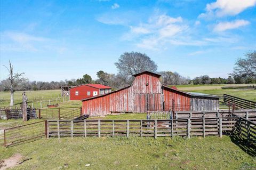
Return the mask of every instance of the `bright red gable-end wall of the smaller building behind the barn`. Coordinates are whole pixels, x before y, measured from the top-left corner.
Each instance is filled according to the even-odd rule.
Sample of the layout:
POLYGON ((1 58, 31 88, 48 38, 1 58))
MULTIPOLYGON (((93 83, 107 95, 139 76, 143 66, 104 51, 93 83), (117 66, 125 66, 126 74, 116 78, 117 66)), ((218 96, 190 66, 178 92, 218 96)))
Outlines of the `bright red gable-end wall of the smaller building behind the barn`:
POLYGON ((98 94, 100 94, 100 91, 98 88, 94 88, 86 85, 70 88, 69 90, 70 100, 82 100, 85 98, 91 98, 93 96, 93 91, 97 91, 98 94), (78 95, 76 95, 76 91, 78 91, 78 95), (87 95, 87 91, 90 91, 91 94, 87 95))

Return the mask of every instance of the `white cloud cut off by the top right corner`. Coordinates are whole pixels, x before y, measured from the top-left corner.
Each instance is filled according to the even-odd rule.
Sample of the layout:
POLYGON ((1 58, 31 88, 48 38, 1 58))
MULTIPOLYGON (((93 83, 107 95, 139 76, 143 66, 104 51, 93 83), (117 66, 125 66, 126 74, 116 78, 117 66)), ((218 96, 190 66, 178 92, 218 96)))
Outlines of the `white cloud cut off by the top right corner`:
POLYGON ((254 5, 256 5, 256 0, 217 0, 207 4, 206 13, 200 14, 199 17, 211 18, 214 16, 236 15, 254 5))

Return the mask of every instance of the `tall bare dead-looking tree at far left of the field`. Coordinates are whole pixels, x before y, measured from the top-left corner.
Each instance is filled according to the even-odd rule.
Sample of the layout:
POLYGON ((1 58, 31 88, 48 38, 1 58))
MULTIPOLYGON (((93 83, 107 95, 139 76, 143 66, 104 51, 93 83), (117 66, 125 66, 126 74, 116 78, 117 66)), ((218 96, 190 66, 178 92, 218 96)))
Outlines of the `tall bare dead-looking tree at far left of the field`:
POLYGON ((21 76, 24 74, 22 73, 13 73, 13 66, 11 64, 11 61, 9 60, 9 64, 10 64, 10 68, 4 66, 8 71, 9 71, 9 77, 8 77, 8 82, 6 82, 5 87, 9 88, 10 92, 11 92, 11 101, 10 101, 10 106, 13 106, 14 104, 14 98, 13 98, 13 94, 16 90, 16 87, 18 86, 18 84, 21 82, 21 76))

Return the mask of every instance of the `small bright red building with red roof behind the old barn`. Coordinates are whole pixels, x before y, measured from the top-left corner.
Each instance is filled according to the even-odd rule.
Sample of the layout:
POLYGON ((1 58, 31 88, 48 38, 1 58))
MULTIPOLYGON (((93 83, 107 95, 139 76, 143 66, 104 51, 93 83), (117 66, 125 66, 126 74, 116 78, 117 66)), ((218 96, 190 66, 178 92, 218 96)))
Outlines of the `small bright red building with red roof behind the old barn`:
POLYGON ((69 89, 69 100, 82 100, 111 92, 111 87, 101 84, 82 84, 69 89))

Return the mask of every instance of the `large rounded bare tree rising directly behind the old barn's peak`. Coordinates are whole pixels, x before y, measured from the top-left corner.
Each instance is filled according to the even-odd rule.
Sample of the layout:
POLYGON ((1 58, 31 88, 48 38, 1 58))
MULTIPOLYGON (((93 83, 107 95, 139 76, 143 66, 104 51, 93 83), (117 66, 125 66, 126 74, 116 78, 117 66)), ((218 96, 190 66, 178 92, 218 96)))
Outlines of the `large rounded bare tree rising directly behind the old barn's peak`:
POLYGON ((131 77, 142 71, 155 72, 157 70, 156 63, 149 56, 138 52, 125 52, 120 56, 115 65, 119 74, 126 77, 131 77))

